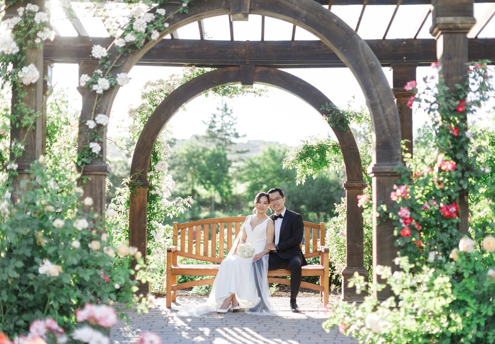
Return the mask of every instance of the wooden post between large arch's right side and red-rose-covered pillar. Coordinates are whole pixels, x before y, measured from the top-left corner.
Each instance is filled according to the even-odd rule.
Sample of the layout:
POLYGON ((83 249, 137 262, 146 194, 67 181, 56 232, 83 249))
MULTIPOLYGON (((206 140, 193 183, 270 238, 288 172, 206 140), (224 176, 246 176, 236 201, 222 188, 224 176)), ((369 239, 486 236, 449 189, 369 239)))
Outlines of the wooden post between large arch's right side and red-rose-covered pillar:
POLYGON ((397 110, 400 117, 400 139, 408 140, 404 145, 406 147, 406 153, 413 154, 413 134, 412 134, 412 109, 407 106, 409 97, 412 95, 411 91, 406 91, 404 85, 411 81, 416 80, 416 63, 401 63, 392 64, 392 80, 394 96, 396 97, 397 110))

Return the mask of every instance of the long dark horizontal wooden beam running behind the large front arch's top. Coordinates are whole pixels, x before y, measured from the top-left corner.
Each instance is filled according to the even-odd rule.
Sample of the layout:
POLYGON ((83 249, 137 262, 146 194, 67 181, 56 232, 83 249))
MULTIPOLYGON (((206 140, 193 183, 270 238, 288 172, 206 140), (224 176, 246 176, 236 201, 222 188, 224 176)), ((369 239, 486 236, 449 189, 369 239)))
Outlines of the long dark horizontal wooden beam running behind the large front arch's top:
MULTIPOLYGON (((44 59, 53 63, 93 61, 93 45, 108 46, 112 38, 56 37, 44 46, 44 59)), ((249 64, 278 68, 344 67, 332 50, 320 41, 251 41, 249 64)), ((430 64, 437 61, 436 42, 424 40, 366 40, 384 66, 391 63, 430 64)), ((469 60, 495 60, 495 40, 469 39, 469 60)), ((138 63, 156 66, 225 67, 246 64, 246 42, 210 40, 161 40, 138 63), (221 53, 220 53, 221 52, 221 53)))

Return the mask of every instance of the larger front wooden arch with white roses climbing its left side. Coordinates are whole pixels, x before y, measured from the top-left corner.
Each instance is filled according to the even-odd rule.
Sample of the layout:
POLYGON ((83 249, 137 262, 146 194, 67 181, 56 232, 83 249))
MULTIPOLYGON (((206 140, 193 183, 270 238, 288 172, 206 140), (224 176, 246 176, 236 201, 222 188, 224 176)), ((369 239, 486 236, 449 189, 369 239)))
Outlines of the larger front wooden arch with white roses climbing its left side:
MULTIPOLYGON (((175 4, 169 4, 164 8, 172 13, 175 6, 175 4)), ((376 207, 379 202, 390 203, 388 196, 398 177, 394 169, 401 162, 400 125, 394 95, 373 51, 334 13, 313 0, 195 0, 190 6, 189 13, 175 15, 169 21, 168 30, 160 35, 163 37, 168 32, 204 18, 219 15, 232 15, 233 18, 239 18, 247 17, 249 13, 270 16, 302 27, 328 45, 352 71, 361 86, 372 116, 374 149, 373 165, 369 172, 373 178, 373 204, 376 207)), ((140 50, 124 57, 119 67, 113 72, 115 74, 128 72, 158 41, 145 42, 140 50)), ((109 49, 109 53, 114 56, 118 55, 114 47, 109 49)), ((79 125, 78 143, 80 146, 87 139, 86 121, 91 119, 93 111, 109 115, 117 91, 118 87, 108 90, 97 104, 95 104, 95 92, 85 93, 79 125)), ((105 142, 104 131, 102 138, 105 142)), ((104 209, 105 178, 108 173, 104 144, 102 148, 102 157, 86 166, 83 171, 83 175, 90 179, 84 185, 85 194, 93 197, 97 211, 104 209)), ((377 264, 394 266, 393 259, 396 257, 394 241, 393 225, 390 221, 383 221, 379 225, 374 222, 374 266, 377 264)), ((376 281, 379 280, 376 274, 374 277, 376 281)), ((382 297, 387 297, 386 294, 389 292, 382 297)))

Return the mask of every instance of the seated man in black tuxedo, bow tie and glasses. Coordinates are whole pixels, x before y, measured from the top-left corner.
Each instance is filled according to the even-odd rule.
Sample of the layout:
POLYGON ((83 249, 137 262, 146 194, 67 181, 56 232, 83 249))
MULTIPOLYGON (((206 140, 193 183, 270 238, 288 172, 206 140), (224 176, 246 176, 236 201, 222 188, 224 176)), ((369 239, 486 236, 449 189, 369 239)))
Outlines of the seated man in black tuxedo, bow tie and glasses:
MULTIPOLYGON (((268 191, 268 201, 270 208, 275 212, 271 215, 275 224, 275 242, 266 246, 271 251, 268 258, 268 270, 287 269, 291 271, 291 310, 299 313, 296 299, 301 285, 301 266, 307 265, 299 247, 304 231, 302 216, 285 208, 284 191, 279 188, 268 191)), ((256 262, 254 267, 259 269, 256 262)), ((255 273, 255 277, 257 275, 255 273)), ((258 293, 260 293, 258 281, 255 282, 258 293)))

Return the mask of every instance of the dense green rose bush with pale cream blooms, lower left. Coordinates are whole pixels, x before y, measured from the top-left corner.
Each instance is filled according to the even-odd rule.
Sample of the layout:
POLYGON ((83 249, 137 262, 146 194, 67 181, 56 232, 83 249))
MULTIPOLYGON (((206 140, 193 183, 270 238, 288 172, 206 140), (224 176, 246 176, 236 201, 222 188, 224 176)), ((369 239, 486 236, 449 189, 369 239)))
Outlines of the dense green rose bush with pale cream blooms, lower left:
POLYGON ((85 303, 133 301, 131 260, 114 255, 100 219, 82 210, 68 161, 66 151, 32 164, 15 208, 1 203, 0 330, 8 335, 47 316, 70 328, 85 303))

